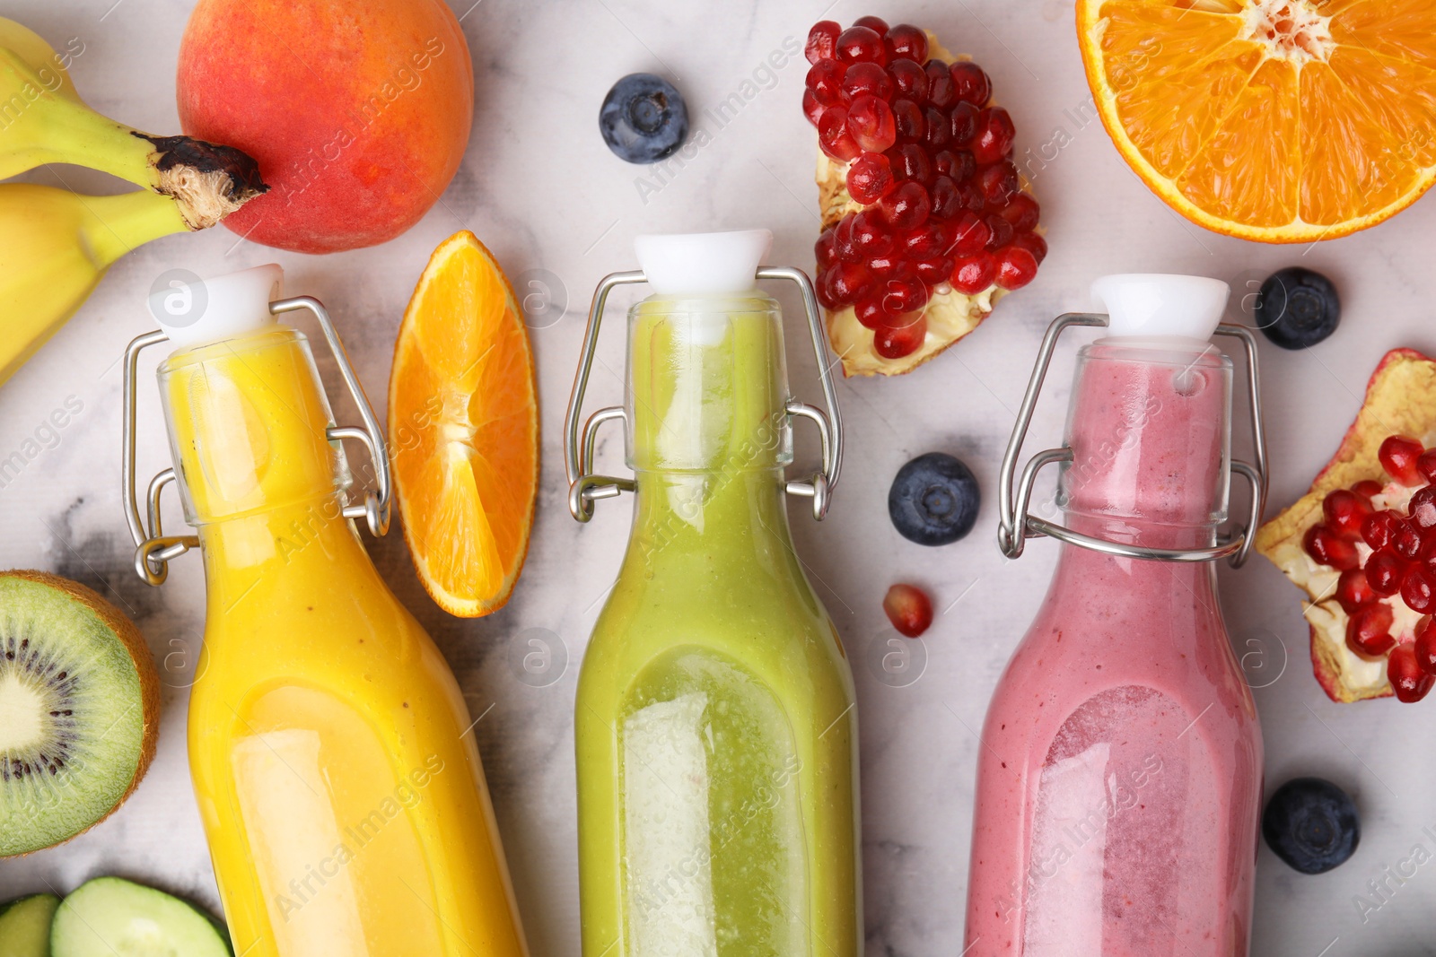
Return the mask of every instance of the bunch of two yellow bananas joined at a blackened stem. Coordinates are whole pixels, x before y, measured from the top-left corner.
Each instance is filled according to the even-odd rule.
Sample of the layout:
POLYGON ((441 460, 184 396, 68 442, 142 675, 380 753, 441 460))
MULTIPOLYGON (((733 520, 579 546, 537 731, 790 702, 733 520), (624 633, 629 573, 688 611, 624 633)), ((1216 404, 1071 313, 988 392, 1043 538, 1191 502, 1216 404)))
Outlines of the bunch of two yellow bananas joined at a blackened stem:
POLYGON ((204 230, 269 189, 246 154, 151 136, 85 105, 60 57, 0 17, 0 179, 42 164, 101 169, 145 187, 86 197, 0 184, 0 383, 80 307, 136 245, 204 230))

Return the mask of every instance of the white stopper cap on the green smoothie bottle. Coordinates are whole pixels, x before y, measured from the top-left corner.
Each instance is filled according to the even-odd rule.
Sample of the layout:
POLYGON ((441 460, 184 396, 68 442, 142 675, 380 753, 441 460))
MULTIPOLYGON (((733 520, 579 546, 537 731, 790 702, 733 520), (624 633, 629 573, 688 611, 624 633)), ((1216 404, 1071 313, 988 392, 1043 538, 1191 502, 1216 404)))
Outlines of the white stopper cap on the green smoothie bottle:
POLYGON ((659 296, 747 293, 771 248, 773 234, 767 230, 633 238, 638 264, 659 296))

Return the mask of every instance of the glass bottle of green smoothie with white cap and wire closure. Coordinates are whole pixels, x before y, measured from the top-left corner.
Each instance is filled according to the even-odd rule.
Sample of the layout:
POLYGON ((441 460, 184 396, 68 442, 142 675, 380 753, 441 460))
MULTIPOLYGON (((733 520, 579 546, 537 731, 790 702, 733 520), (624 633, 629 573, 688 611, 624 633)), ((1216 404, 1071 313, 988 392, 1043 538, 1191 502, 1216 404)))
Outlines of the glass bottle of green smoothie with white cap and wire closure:
POLYGON ((788 531, 785 491, 821 517, 840 422, 793 400, 765 231, 640 237, 642 273, 599 287, 569 409, 570 508, 635 492, 628 554, 583 657, 576 704, 584 957, 862 953, 853 677, 788 531), (628 405, 579 430, 607 291, 629 311, 628 405), (824 469, 787 482, 790 419, 824 469), (590 473, 593 429, 628 425, 633 479, 590 473))

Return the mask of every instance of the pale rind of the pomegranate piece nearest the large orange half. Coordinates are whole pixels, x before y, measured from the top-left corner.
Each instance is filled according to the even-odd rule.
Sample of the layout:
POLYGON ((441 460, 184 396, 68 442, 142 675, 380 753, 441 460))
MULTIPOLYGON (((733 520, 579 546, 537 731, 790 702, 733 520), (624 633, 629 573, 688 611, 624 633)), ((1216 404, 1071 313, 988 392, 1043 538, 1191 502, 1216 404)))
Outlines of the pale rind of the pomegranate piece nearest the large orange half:
MULTIPOLYGON (((948 53, 931 30, 926 33, 928 59, 945 60, 948 63, 972 59, 969 56, 948 53)), ((992 99, 991 103, 997 105, 997 100, 992 99)), ((823 220, 823 230, 837 225, 849 212, 867 208, 847 195, 847 164, 834 161, 821 149, 817 151, 817 172, 814 179, 817 181, 817 204, 823 220)), ((1021 178, 1021 188, 1027 195, 1032 195, 1031 184, 1028 184, 1025 176, 1021 178)), ((1034 232, 1041 235, 1043 228, 1037 227, 1034 232)), ((997 300, 1005 296, 1007 291, 994 283, 976 296, 965 296, 958 290, 933 293, 932 298, 923 307, 923 314, 928 317, 926 337, 923 337, 918 349, 899 359, 883 359, 877 354, 873 349, 873 330, 857 321, 857 313, 853 311, 852 306, 840 310, 823 310, 827 317, 827 339, 833 346, 833 353, 843 362, 843 374, 902 376, 922 363, 935 359, 959 339, 975 330, 992 311, 997 300)))

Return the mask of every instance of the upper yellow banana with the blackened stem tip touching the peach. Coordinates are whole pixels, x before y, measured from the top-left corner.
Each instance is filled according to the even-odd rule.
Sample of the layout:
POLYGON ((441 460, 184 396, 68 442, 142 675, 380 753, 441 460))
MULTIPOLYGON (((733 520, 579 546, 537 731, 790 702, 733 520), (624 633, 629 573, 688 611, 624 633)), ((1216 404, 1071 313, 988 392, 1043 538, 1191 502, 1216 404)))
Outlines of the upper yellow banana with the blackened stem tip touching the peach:
POLYGON ((99 115, 80 99, 63 57, 0 17, 0 179, 49 162, 102 169, 167 195, 191 230, 269 189, 254 159, 233 146, 151 136, 99 115))

